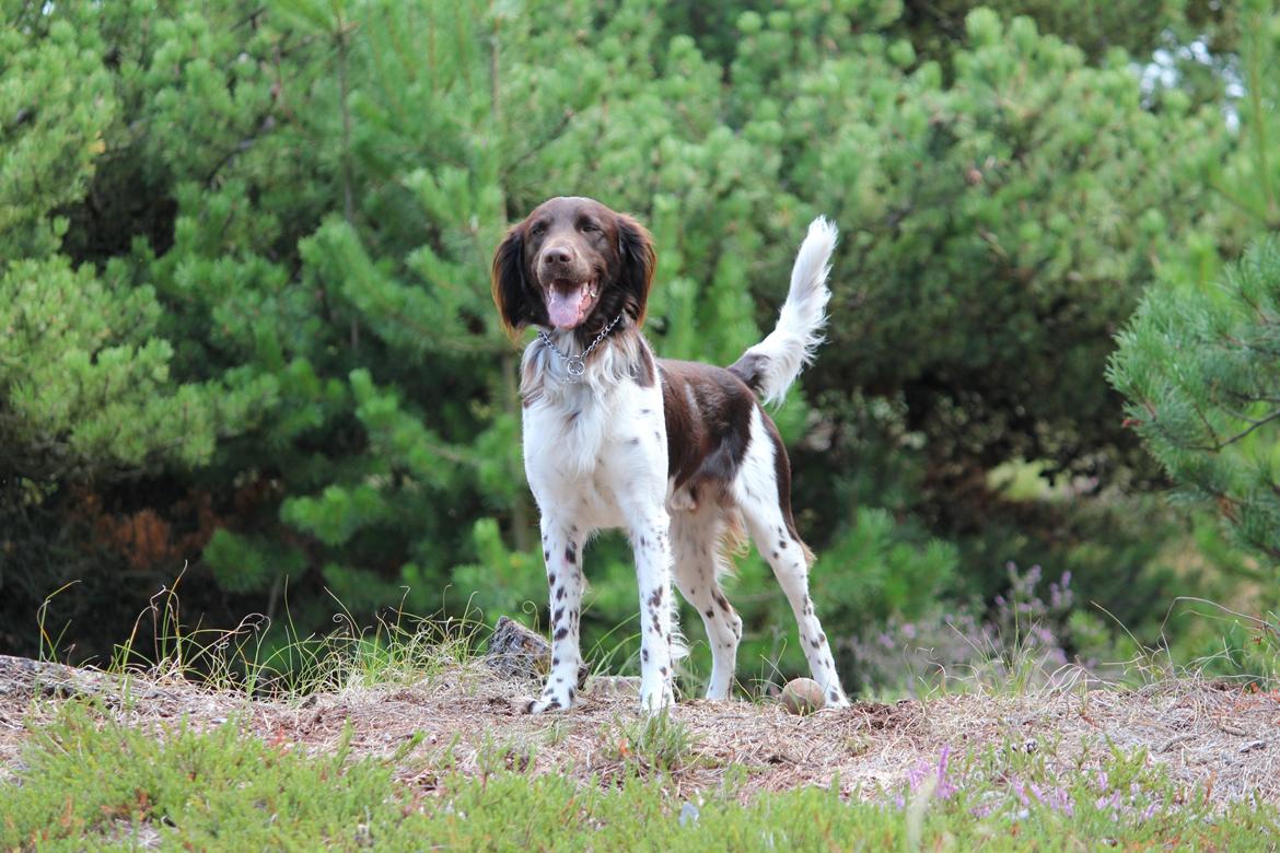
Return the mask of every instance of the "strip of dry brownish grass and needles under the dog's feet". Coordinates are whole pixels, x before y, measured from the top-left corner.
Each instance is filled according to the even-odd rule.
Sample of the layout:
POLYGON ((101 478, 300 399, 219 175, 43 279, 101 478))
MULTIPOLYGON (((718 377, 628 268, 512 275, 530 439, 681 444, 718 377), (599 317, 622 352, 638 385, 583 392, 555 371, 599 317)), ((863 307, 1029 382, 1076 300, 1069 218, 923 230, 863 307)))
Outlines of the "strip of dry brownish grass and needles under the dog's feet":
MULTIPOLYGON (((157 732, 179 720, 197 728, 236 720, 275 744, 332 752, 351 728, 351 755, 396 757, 398 776, 430 790, 435 772, 467 775, 500 767, 558 772, 603 784, 644 769, 628 733, 634 700, 588 691, 568 714, 530 717, 517 696, 531 685, 500 678, 483 664, 454 665, 416 684, 316 693, 296 701, 252 701, 178 679, 122 683, 86 670, 0 656, 0 778, 17 769, 31 728, 51 719, 60 697, 90 694, 104 712, 157 732)), ((956 694, 927 702, 858 702, 808 717, 776 703, 685 701, 673 719, 690 746, 668 769, 675 793, 732 778, 741 795, 804 785, 877 795, 909 769, 952 755, 1030 751, 1050 770, 1079 767, 1082 757, 1146 751, 1178 783, 1219 803, 1257 793, 1280 803, 1280 692, 1245 692, 1201 679, 1165 680, 1140 689, 1084 680, 1021 696, 956 694)), ((1084 758, 1085 763, 1088 758, 1084 758)))

